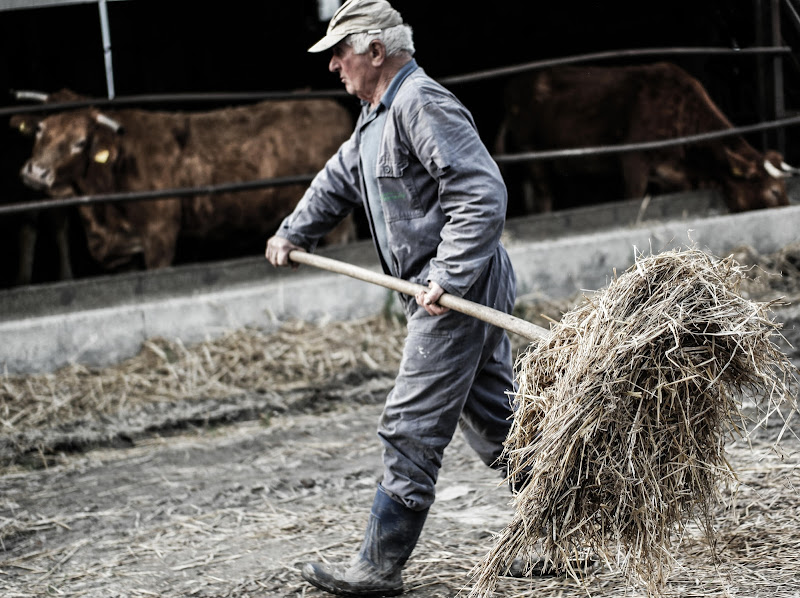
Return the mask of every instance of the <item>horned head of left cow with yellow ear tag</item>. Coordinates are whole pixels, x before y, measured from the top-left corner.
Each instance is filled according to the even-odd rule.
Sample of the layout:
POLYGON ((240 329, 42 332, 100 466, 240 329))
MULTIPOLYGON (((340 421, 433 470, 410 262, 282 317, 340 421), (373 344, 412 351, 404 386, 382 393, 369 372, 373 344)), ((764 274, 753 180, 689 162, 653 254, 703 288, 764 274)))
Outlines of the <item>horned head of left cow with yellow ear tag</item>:
MULTIPOLYGON (((87 173, 111 177, 119 157, 122 127, 92 109, 72 110, 41 118, 31 158, 20 171, 23 182, 52 197, 79 194, 87 173)), ((110 189, 110 181, 99 187, 110 189)), ((96 185, 97 186, 97 185, 96 185)))

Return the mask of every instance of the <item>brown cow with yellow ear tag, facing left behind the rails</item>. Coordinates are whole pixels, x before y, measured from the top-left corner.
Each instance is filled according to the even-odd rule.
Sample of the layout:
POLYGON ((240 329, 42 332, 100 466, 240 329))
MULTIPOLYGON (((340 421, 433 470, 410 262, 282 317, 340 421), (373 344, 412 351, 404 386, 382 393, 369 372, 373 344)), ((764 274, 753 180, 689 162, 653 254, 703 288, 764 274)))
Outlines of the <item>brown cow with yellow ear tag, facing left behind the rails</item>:
MULTIPOLYGON (((208 112, 71 110, 39 121, 26 185, 52 197, 215 185, 314 173, 352 131, 333 100, 266 101, 208 112)), ((81 206, 91 256, 106 269, 172 263, 179 237, 235 244, 273 232, 298 185, 81 206)), ((352 221, 336 239, 347 240, 352 221)))

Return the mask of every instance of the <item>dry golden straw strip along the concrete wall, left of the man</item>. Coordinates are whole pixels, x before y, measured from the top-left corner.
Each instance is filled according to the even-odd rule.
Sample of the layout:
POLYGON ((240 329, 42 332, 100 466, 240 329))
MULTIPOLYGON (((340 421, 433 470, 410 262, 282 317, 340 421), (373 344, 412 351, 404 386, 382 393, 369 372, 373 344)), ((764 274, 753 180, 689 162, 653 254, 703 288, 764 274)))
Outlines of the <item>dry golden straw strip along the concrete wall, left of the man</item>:
POLYGON ((348 322, 294 321, 268 333, 231 331, 193 346, 150 339, 105 368, 0 375, 0 434, 102 418, 156 402, 216 398, 330 383, 356 369, 394 371, 404 327, 382 316, 348 322))

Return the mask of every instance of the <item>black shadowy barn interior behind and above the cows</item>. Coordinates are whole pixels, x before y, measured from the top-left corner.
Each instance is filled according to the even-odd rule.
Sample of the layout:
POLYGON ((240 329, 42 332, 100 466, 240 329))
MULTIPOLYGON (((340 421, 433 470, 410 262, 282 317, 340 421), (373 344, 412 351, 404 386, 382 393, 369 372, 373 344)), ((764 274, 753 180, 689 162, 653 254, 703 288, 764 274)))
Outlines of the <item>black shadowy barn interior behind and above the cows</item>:
MULTIPOLYGON (((633 48, 800 46, 800 3, 795 0, 672 0, 641 2, 530 2, 505 0, 469 5, 456 0, 395 0, 414 27, 417 60, 436 78, 547 58, 633 48), (777 32, 776 32, 777 23, 777 32)), ((0 89, 45 92, 68 87, 107 97, 98 3, 2 2, 0 89), (42 4, 41 6, 33 6, 42 4), (46 4, 46 6, 44 6, 46 4)), ((306 49, 325 31, 316 0, 199 3, 186 0, 107 3, 116 97, 138 94, 337 90, 327 55, 306 49)), ((659 57, 605 60, 636 64, 659 57)), ((798 54, 782 54, 779 102, 773 55, 681 55, 665 58, 697 77, 735 125, 792 116, 800 110, 798 54), (776 112, 776 105, 778 106, 776 112)), ((503 77, 452 85, 473 112, 487 144, 501 114, 503 77)), ((357 102, 342 100, 355 113, 357 102)), ((15 105, 6 96, 5 106, 15 105)), ((170 109, 208 108, 171 102, 170 109)), ((800 164, 797 128, 753 133, 757 148, 781 149, 800 164)), ((8 126, 0 128, 0 194, 3 203, 37 196, 19 182, 30 150, 8 126)), ((0 216, 6 259, 0 287, 14 284, 16 233, 24 216, 0 216)), ((46 233, 37 245, 34 282, 53 280, 46 233)), ((80 245, 79 240, 76 243, 80 245)), ((79 252, 79 250, 78 250, 79 252)), ((90 269, 78 274, 92 274, 90 269)))

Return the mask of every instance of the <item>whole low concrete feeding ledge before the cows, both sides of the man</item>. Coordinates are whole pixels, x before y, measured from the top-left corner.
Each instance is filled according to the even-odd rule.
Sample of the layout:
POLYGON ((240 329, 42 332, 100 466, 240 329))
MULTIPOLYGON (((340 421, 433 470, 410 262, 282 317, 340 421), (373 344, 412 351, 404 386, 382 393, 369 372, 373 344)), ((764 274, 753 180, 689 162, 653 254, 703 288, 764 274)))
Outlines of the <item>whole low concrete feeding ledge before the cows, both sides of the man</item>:
MULTIPOLYGON (((593 221, 599 223, 591 218, 588 223, 593 221)), ((658 252, 694 242, 720 256, 741 245, 775 251, 798 240, 800 206, 704 217, 681 213, 667 221, 637 217, 599 232, 569 234, 567 227, 543 240, 521 238, 522 221, 509 228, 516 231, 507 246, 519 294, 564 297, 604 286, 614 268, 622 271, 633 263, 634 247, 658 252)), ((371 243, 326 253, 378 271, 371 243)), ((390 291, 374 285, 309 268, 276 271, 262 258, 215 264, 215 273, 209 271, 205 266, 139 273, 6 295, 0 365, 9 373, 53 371, 70 363, 108 365, 136 354, 148 338, 193 343, 246 326, 271 330, 291 318, 363 317, 392 301, 390 291)))

